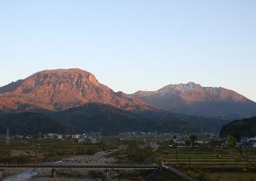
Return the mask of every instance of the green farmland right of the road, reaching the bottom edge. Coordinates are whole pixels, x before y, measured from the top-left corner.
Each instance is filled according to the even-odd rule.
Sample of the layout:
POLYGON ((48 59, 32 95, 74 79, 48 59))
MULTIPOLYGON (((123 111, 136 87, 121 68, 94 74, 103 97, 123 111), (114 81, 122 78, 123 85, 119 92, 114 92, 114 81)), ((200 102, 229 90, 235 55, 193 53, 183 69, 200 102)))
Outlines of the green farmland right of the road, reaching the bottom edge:
MULTIPOLYGON (((244 153, 252 163, 256 163, 256 150, 247 150, 244 153)), ((229 149, 179 147, 177 150, 165 147, 158 151, 154 161, 175 166, 198 180, 256 180, 255 167, 250 166, 238 153, 231 153, 229 149)))

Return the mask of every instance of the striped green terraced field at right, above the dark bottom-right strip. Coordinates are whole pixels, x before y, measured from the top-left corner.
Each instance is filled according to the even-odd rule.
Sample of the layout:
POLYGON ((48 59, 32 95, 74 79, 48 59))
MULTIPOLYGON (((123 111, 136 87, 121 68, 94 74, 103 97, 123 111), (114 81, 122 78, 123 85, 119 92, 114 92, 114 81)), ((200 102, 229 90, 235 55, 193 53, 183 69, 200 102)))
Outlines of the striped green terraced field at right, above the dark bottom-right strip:
MULTIPOLYGON (((256 162, 256 150, 245 151, 246 155, 256 162)), ((204 148, 204 147, 180 147, 178 150, 165 150, 162 158, 159 158, 166 165, 176 166, 178 157, 178 166, 193 167, 239 167, 249 166, 249 163, 241 159, 241 156, 236 153, 230 153, 230 150, 204 148), (176 153, 177 152, 177 153, 176 153)))

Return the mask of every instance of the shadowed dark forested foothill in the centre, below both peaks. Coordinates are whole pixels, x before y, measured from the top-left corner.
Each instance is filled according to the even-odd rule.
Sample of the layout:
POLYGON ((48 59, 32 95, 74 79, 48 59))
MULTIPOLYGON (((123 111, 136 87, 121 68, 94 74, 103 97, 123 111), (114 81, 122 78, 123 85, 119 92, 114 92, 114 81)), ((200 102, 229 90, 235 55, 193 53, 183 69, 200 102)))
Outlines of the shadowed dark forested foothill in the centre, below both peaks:
POLYGON ((108 104, 88 103, 51 115, 57 120, 72 125, 79 133, 99 131, 104 134, 118 134, 122 131, 151 131, 173 133, 195 133, 219 131, 223 120, 197 116, 178 115, 162 110, 130 112, 108 104))

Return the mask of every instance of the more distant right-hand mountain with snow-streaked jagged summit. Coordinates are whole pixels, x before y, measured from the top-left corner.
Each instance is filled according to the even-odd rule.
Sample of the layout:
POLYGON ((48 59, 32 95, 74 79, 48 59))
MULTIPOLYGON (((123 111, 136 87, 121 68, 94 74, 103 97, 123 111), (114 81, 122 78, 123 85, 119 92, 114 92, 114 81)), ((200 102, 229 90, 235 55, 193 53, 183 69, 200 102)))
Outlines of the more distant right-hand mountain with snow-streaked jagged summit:
POLYGON ((167 85, 156 91, 138 91, 132 95, 152 107, 186 115, 233 120, 256 115, 256 103, 233 90, 202 87, 194 82, 167 85))

